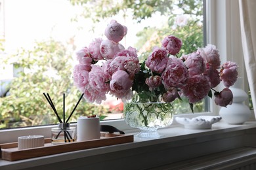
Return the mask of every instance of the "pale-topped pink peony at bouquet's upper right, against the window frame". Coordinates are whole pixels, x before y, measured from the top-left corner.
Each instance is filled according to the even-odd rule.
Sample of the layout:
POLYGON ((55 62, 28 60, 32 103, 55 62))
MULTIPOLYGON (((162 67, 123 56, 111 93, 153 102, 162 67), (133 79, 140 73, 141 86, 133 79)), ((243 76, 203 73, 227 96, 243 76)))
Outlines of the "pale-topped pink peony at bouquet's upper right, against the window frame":
POLYGON ((204 56, 207 63, 209 63, 213 69, 219 69, 221 60, 219 58, 219 50, 217 50, 215 45, 208 44, 205 48, 199 49, 197 52, 204 56))

